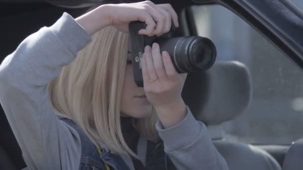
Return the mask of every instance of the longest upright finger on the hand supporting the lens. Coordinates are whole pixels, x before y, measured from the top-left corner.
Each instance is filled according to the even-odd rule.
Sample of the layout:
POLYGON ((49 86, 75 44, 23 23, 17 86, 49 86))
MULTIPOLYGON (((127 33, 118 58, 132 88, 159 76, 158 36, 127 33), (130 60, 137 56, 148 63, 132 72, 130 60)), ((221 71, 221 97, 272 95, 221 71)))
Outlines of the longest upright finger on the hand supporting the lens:
POLYGON ((157 43, 152 44, 152 60, 153 60, 153 67, 159 81, 166 81, 167 76, 163 65, 163 59, 161 56, 159 45, 157 43))

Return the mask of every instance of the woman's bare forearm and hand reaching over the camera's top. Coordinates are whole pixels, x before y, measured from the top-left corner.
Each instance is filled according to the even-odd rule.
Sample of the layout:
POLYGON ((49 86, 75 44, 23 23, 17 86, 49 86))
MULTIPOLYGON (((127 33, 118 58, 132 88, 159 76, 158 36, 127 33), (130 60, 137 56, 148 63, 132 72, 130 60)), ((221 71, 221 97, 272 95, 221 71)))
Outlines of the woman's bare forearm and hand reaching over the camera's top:
POLYGON ((170 4, 154 4, 152 1, 137 3, 104 4, 76 18, 76 21, 92 35, 102 28, 113 25, 123 32, 128 32, 131 21, 147 24, 139 34, 153 36, 166 33, 171 22, 178 27, 178 16, 170 4))

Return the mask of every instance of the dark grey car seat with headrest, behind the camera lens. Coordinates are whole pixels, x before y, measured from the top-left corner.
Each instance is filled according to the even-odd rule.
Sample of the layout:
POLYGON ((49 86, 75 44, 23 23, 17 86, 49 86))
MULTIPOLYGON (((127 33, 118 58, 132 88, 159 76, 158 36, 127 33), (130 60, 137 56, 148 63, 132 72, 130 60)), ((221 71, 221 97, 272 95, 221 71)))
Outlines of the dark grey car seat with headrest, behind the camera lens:
MULTIPOLYGON (((217 61, 208 71, 188 74, 182 91, 195 118, 208 127, 244 113, 251 96, 249 71, 236 61, 217 61)), ((220 135, 213 143, 230 170, 281 170, 269 153, 255 146, 227 141, 220 135)))

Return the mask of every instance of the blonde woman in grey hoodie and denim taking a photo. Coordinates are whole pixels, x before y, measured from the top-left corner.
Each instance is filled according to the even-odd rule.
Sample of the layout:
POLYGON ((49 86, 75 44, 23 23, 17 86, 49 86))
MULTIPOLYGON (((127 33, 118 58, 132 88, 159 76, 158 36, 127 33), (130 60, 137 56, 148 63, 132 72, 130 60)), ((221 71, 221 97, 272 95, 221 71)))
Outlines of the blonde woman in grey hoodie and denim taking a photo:
POLYGON ((28 169, 227 169, 181 98, 186 75, 155 43, 143 55, 144 88, 136 86, 136 20, 148 36, 178 26, 169 4, 101 5, 76 19, 64 13, 1 63, 0 102, 28 169))

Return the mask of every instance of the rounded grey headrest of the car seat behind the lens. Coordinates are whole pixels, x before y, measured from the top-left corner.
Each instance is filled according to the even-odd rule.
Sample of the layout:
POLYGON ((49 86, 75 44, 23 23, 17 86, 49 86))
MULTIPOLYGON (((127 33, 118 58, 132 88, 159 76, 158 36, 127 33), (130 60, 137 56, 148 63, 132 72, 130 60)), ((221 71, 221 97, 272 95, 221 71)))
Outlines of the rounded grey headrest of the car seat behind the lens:
POLYGON ((246 111, 251 96, 249 71, 237 61, 217 61, 207 71, 188 74, 182 91, 195 118, 208 125, 232 120, 246 111))

